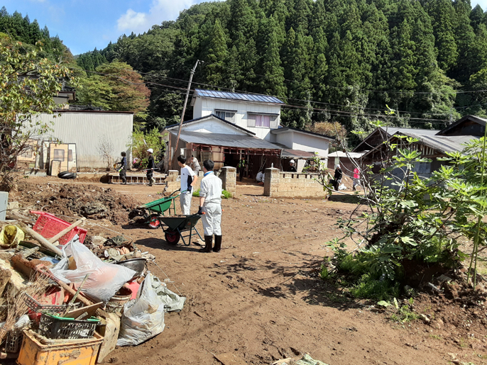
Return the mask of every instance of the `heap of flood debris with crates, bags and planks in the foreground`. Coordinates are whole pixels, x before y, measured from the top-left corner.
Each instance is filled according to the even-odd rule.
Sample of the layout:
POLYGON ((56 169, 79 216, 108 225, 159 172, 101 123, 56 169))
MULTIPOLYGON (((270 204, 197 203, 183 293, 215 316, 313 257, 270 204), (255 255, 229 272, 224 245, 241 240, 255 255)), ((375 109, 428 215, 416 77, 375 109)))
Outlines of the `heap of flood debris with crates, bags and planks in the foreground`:
MULTIPOLYGON (((110 201, 109 189, 97 189, 110 201)), ((0 220, 0 359, 94 364, 163 332, 165 313, 182 310, 186 298, 147 271, 151 254, 81 223, 38 211, 0 220)))

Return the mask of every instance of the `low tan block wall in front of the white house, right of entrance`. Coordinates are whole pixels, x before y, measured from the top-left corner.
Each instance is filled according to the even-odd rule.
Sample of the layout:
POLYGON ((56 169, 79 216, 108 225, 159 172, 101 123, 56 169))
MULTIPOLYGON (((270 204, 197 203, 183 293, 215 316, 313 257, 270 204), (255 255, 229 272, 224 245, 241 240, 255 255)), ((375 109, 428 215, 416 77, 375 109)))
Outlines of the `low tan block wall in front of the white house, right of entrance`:
POLYGON ((288 198, 320 198, 327 196, 323 186, 310 174, 280 172, 279 169, 266 169, 264 195, 288 198))

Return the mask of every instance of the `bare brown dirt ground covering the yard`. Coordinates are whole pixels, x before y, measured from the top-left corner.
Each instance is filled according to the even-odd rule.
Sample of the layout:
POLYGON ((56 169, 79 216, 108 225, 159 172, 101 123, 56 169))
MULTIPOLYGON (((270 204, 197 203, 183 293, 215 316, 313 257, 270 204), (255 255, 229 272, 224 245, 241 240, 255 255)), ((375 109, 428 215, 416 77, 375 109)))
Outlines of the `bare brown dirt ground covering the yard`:
MULTIPOLYGON (((38 189, 48 181, 60 180, 36 178, 25 184, 38 189)), ((162 190, 66 184, 66 191, 83 191, 88 184, 111 188, 138 203, 160 198, 162 190)), ((214 354, 227 352, 247 364, 271 364, 304 352, 329 365, 487 363, 485 308, 476 309, 478 321, 472 322, 468 305, 423 295, 416 298, 416 309, 433 324, 401 324, 374 312, 373 303, 337 298, 319 279, 317 271, 329 254, 324 242, 339 235, 334 223, 353 210, 353 198, 280 199, 262 192, 263 186, 239 184, 236 197, 223 201, 223 249, 218 254, 199 253, 194 243, 168 245, 160 229, 101 221, 155 255, 157 266, 149 264, 151 272, 161 279, 167 274, 187 297, 181 313, 165 316, 163 333, 137 347, 116 349, 106 363, 220 364, 214 354)), ((18 192, 18 197, 24 195, 18 192)), ((193 198, 191 211, 196 213, 197 206, 193 198)), ((201 223, 197 228, 202 234, 201 223)))

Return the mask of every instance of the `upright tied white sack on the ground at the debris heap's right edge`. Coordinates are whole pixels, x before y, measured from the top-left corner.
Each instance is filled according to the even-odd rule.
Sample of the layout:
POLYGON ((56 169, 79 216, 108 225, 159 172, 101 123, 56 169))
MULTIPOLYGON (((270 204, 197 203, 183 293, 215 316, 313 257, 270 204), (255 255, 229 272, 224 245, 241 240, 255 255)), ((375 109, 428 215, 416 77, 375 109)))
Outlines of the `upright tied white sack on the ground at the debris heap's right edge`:
POLYGON ((155 293, 152 281, 152 274, 148 274, 136 300, 124 305, 117 346, 136 346, 163 332, 164 303, 155 293))

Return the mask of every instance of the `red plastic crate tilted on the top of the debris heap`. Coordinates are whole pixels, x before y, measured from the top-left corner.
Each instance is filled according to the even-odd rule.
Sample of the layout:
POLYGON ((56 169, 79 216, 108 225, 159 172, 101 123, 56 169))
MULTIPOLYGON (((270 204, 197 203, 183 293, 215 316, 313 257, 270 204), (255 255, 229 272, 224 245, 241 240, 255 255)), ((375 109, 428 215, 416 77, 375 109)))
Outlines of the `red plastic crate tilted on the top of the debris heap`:
MULTIPOLYGON (((33 210, 31 210, 31 213, 39 215, 35 225, 33 226, 33 230, 47 239, 54 237, 59 232, 71 225, 71 223, 67 223, 65 220, 59 219, 51 213, 36 212, 33 210)), ((87 232, 88 231, 84 230, 83 228, 75 227, 70 230, 70 232, 67 232, 64 236, 60 237, 58 240, 59 244, 66 245, 68 242, 70 242, 70 240, 72 240, 72 237, 75 237, 75 235, 78 235, 80 237, 80 242, 83 243, 87 232)))

